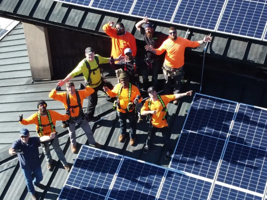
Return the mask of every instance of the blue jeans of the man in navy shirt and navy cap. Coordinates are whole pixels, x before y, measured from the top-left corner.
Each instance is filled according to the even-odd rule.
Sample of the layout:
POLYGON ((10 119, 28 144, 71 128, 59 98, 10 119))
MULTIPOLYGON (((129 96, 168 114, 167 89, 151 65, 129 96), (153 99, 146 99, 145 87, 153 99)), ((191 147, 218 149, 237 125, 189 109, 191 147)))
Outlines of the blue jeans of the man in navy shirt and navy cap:
POLYGON ((34 185, 39 185, 39 183, 43 180, 43 173, 41 166, 34 170, 21 169, 21 171, 24 175, 28 191, 31 194, 34 194, 35 193, 34 185), (32 173, 34 173, 35 176, 34 180, 32 180, 32 173))

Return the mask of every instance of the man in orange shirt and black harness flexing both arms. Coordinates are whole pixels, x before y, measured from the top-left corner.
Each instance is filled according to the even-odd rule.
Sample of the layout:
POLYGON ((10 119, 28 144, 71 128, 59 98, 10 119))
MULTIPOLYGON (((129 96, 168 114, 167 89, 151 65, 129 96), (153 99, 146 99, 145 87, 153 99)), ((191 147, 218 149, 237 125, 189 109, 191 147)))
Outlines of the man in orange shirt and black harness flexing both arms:
POLYGON ((69 138, 71 141, 71 152, 76 153, 76 134, 75 134, 75 123, 80 125, 82 130, 85 132, 85 135, 88 138, 89 144, 94 145, 96 148, 101 148, 101 145, 98 144, 93 136, 90 125, 85 119, 84 112, 82 110, 82 103, 85 97, 94 93, 94 89, 91 87, 85 87, 83 84, 80 84, 79 91, 75 90, 74 83, 72 81, 66 82, 67 92, 57 92, 61 89, 60 86, 57 86, 53 89, 49 97, 61 101, 64 104, 66 110, 71 111, 71 116, 68 121, 63 122, 65 127, 68 127, 69 138))

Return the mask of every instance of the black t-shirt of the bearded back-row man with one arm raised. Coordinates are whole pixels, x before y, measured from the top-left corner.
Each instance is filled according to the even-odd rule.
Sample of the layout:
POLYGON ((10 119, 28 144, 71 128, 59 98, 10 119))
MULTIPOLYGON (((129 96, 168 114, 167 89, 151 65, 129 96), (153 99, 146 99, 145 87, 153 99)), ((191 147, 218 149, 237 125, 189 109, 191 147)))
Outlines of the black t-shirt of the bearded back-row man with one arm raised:
MULTIPOLYGON (((153 37, 148 38, 146 35, 146 31, 144 30, 144 28, 142 26, 140 28, 140 32, 144 36, 144 40, 146 41, 147 45, 151 45, 154 49, 158 49, 161 46, 161 44, 163 43, 163 41, 168 39, 168 35, 166 35, 162 32, 158 32, 158 31, 154 31, 153 37)), ((150 51, 147 51, 147 56, 149 58, 159 58, 160 57, 159 55, 156 55, 150 51)))

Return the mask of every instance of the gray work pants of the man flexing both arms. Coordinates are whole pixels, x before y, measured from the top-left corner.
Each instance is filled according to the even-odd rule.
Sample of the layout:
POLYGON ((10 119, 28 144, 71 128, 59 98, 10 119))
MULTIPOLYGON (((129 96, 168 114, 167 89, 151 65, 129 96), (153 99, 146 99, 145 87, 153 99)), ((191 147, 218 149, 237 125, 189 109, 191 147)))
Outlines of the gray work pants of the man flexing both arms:
MULTIPOLYGON (((74 123, 69 123, 69 127, 68 127, 69 138, 70 138, 71 144, 74 145, 74 146, 76 145, 75 123, 79 124, 81 121, 82 121, 82 117, 80 117, 77 120, 73 120, 74 123)), ((84 119, 82 124, 80 124, 80 127, 85 132, 85 135, 88 138, 89 144, 94 145, 96 143, 96 140, 95 140, 95 138, 93 136, 93 132, 91 130, 91 127, 88 124, 88 122, 86 121, 86 119, 84 119)))

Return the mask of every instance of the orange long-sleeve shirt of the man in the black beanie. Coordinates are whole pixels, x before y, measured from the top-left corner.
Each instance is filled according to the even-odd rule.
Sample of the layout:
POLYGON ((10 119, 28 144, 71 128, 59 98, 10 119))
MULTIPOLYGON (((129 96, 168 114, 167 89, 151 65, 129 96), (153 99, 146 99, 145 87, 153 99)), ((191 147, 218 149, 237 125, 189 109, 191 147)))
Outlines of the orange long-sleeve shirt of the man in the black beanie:
MULTIPOLYGON (((55 126, 56 121, 66 121, 69 119, 69 115, 61 115, 56 111, 51 111, 48 110, 50 113, 50 117, 51 117, 51 121, 55 126)), ((39 111, 38 111, 39 112, 39 111)), ((37 113, 38 113, 37 112, 37 113)), ((23 125, 28 125, 28 124, 36 124, 36 132, 39 129, 39 123, 38 123, 38 116, 37 113, 32 114, 31 116, 29 116, 27 119, 22 119, 22 121, 20 121, 20 124, 23 125)), ((41 123, 43 125, 49 124, 49 120, 47 115, 46 116, 42 116, 40 115, 40 119, 41 119, 41 123)), ((47 127, 43 127, 44 131, 43 131, 43 135, 49 135, 51 134, 51 127, 47 126, 47 127)), ((42 135, 38 134, 39 137, 41 137, 42 135)))

